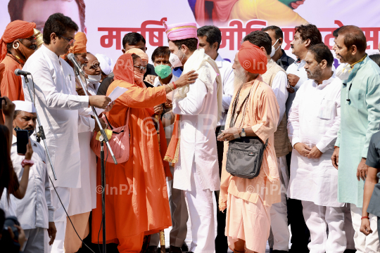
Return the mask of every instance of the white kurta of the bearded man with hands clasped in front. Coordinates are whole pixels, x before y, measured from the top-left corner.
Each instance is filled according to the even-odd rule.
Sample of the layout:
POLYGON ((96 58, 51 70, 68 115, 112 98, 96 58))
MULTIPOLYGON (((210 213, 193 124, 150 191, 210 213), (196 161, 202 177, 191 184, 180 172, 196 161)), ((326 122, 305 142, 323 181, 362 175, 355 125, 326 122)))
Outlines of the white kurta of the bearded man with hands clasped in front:
POLYGON ((287 193, 292 199, 327 207, 344 205, 338 202, 338 170, 331 164, 341 123, 341 85, 341 79, 333 74, 319 85, 310 79, 297 91, 288 120, 291 144, 317 146, 323 154, 319 159, 308 159, 293 150, 287 193))

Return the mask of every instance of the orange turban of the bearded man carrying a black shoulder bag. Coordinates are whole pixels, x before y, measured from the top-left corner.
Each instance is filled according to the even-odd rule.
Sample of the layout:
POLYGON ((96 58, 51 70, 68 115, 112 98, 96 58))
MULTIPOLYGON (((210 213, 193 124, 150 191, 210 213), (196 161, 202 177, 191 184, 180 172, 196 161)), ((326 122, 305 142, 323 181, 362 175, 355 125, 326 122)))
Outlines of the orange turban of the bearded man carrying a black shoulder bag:
POLYGON ((253 74, 264 74, 267 72, 267 56, 256 45, 244 41, 238 52, 238 59, 244 70, 253 74))

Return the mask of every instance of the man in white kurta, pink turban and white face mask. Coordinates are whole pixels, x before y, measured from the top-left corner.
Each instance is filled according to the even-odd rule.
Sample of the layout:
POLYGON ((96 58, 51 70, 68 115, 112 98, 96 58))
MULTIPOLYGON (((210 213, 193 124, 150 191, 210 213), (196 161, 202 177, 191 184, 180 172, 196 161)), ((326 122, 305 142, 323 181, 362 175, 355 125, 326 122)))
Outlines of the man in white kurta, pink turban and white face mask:
POLYGON ((189 252, 213 253, 213 191, 220 190, 215 128, 222 115, 222 82, 215 61, 205 54, 204 49, 196 49, 196 24, 187 25, 165 26, 170 39, 170 59, 178 58, 170 60, 172 66, 178 67, 179 63, 184 65, 182 74, 191 70, 199 74, 194 84, 176 90, 174 94, 173 113, 181 115, 181 125, 173 187, 185 191, 189 207, 192 235, 189 252), (180 37, 181 42, 176 44, 176 32, 184 32, 182 27, 186 27, 189 33, 180 37))

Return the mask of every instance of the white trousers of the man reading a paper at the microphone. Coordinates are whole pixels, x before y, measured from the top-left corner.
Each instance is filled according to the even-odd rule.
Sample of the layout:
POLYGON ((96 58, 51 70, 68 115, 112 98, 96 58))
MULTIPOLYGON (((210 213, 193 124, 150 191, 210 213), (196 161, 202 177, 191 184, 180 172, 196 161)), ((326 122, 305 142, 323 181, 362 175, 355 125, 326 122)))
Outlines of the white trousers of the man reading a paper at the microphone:
MULTIPOLYGON (((56 190, 67 211, 70 203, 70 188, 56 187, 56 190)), ((56 207, 56 212, 54 212, 54 223, 56 223, 57 229, 56 240, 54 240, 53 245, 50 247, 51 253, 65 253, 65 245, 63 245, 63 243, 65 242, 67 215, 54 189, 51 190, 51 198, 53 206, 56 207)))

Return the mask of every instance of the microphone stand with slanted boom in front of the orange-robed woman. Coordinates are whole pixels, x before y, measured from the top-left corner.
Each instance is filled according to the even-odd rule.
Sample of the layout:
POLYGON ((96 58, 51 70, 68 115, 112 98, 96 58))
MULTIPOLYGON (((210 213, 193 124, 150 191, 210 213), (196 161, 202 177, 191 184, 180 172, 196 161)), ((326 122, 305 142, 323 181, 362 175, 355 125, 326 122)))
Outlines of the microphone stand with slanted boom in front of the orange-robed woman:
MULTIPOLYGON (((80 80, 80 85, 82 86, 84 93, 86 94, 86 96, 89 96, 89 93, 87 92, 87 89, 83 84, 82 78, 80 78, 79 69, 77 67, 74 67, 74 69, 75 69, 75 74, 77 75, 78 79, 80 80)), ((104 131, 104 129, 102 129, 102 127, 101 127, 101 123, 99 121, 99 117, 98 117, 98 114, 96 113, 94 106, 91 106, 91 108, 92 108, 92 112, 94 112, 94 117, 95 117, 96 123, 98 124, 99 128, 101 129, 101 134, 103 136, 103 140, 101 140, 101 138, 99 139, 99 140, 101 140, 101 189, 103 190, 101 193, 101 222, 103 224, 103 253, 106 253, 107 252, 107 248, 106 248, 106 168, 104 166, 105 165, 105 163, 104 163, 104 148, 103 148, 104 143, 106 143, 106 145, 107 145, 108 152, 112 156, 113 162, 115 164, 118 164, 118 162, 116 161, 115 155, 113 155, 112 149, 110 148, 110 143, 108 143, 106 131, 104 131)))

